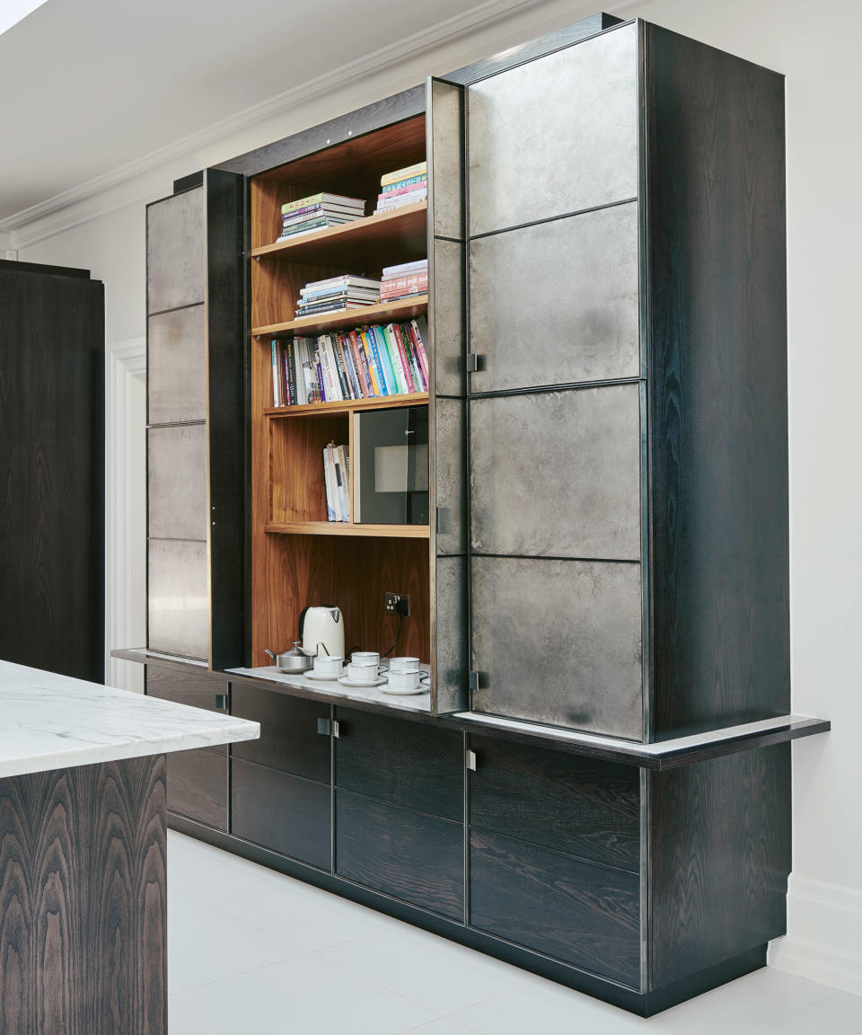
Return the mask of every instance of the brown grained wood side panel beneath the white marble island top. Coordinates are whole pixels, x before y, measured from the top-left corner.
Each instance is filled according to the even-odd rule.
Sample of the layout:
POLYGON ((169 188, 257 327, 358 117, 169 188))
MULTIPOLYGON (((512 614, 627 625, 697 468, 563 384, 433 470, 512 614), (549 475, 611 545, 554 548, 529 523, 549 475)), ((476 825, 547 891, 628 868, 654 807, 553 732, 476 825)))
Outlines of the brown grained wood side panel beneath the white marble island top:
POLYGON ((162 1035, 165 758, 0 780, 1 1035, 162 1035))

